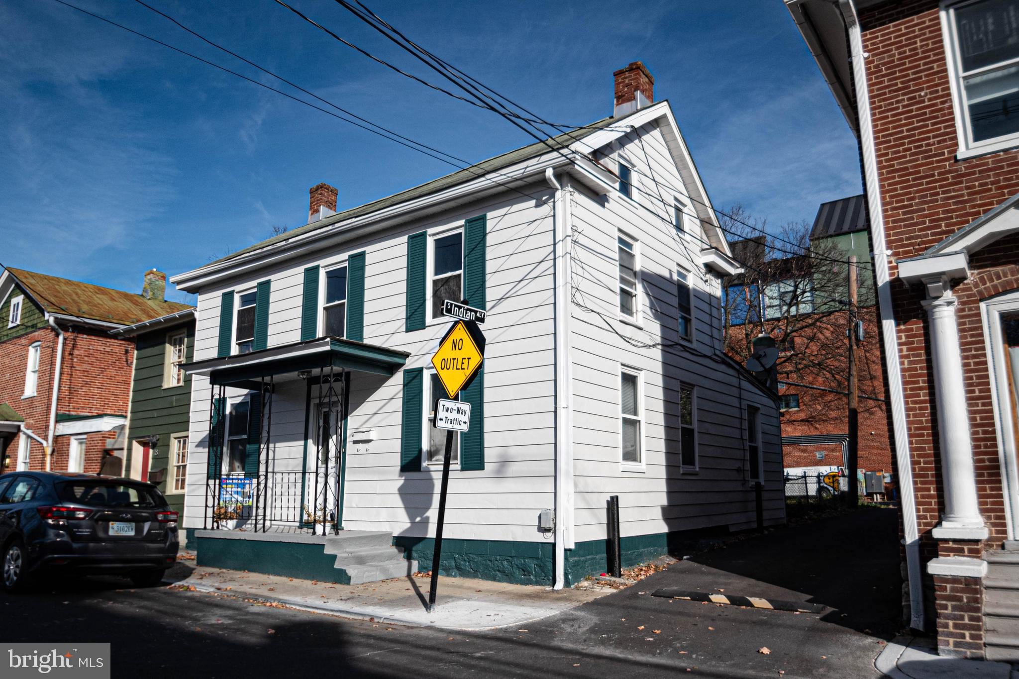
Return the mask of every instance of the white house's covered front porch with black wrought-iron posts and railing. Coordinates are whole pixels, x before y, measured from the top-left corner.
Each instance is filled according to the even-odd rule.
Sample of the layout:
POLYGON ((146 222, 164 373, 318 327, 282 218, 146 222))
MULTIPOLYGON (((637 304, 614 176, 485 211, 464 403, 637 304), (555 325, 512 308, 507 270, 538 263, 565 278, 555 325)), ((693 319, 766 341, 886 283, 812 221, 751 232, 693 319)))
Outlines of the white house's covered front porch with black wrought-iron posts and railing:
POLYGON ((408 356, 325 337, 185 365, 211 387, 200 536, 338 534, 352 383, 380 385, 408 356))

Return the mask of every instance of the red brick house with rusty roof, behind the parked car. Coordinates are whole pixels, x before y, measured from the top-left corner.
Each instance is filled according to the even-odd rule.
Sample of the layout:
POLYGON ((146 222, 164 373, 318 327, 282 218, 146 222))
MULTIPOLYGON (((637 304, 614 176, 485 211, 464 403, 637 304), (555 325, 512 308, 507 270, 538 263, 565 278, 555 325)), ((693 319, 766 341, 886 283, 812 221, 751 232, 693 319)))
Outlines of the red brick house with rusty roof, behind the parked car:
POLYGON ((189 307, 164 301, 165 287, 155 270, 142 294, 19 269, 0 275, 3 471, 97 472, 105 450, 122 453, 135 344, 109 331, 189 307))

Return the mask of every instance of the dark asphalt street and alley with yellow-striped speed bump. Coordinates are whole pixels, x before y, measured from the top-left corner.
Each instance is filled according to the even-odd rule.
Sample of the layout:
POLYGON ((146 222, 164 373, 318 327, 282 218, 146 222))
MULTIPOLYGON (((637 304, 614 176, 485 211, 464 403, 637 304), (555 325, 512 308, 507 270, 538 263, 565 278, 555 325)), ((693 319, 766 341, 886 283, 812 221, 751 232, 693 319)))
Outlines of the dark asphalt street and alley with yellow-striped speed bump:
POLYGON ((465 634, 382 625, 91 578, 0 596, 0 638, 110 641, 113 676, 132 678, 876 677, 873 659, 898 627, 896 533, 895 511, 873 509, 774 529, 527 628, 465 634), (652 597, 659 587, 832 608, 814 615, 715 606, 652 597))

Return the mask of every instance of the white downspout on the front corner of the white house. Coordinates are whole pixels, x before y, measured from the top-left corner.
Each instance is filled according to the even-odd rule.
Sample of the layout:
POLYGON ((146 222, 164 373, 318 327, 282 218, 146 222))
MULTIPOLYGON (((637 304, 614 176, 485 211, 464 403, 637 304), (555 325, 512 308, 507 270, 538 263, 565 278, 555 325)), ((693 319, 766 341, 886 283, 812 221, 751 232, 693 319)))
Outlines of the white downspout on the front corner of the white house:
POLYGON ((573 548, 573 411, 570 407, 570 225, 569 189, 555 179, 552 168, 545 180, 555 189, 554 218, 554 327, 555 327, 555 573, 553 589, 566 584, 566 550, 573 548))

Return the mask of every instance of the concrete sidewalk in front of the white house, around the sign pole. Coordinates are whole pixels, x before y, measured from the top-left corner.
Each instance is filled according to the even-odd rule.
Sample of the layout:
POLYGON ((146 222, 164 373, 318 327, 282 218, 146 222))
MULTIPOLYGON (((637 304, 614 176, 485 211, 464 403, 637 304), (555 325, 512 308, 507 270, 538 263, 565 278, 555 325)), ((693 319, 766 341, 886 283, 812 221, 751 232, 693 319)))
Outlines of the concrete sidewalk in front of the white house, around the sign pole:
POLYGON ((576 608, 612 591, 562 589, 462 577, 439 579, 435 611, 425 610, 430 578, 401 577, 358 585, 200 566, 174 587, 226 593, 377 623, 490 629, 527 623, 576 608))

